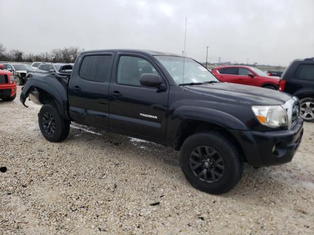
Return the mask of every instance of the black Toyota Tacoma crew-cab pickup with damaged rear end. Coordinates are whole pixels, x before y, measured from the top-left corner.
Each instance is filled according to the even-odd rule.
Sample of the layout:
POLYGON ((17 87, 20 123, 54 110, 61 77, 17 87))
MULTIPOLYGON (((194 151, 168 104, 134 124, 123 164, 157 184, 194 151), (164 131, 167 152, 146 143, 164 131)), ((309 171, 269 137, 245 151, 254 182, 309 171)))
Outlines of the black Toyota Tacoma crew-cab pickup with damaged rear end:
POLYGON ((73 121, 161 143, 180 150, 195 188, 214 194, 235 187, 244 162, 291 161, 303 134, 296 97, 220 83, 193 59, 157 51, 82 52, 71 74, 34 73, 24 105, 28 96, 43 104, 48 141, 65 140, 73 121))

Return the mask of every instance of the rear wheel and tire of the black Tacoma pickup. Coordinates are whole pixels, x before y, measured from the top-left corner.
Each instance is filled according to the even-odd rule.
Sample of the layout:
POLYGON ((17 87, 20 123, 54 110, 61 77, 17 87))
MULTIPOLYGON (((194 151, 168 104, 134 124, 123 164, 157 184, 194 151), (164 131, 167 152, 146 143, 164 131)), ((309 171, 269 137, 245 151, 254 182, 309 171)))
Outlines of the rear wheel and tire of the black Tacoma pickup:
POLYGON ((45 104, 38 115, 42 135, 50 142, 65 140, 70 131, 70 122, 62 118, 53 104, 45 104))

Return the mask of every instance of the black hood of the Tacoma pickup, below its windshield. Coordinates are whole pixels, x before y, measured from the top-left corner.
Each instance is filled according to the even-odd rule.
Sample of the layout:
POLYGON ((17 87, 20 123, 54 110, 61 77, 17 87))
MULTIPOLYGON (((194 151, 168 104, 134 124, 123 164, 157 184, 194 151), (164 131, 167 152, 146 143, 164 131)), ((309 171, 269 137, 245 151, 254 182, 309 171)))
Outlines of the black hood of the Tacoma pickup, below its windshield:
POLYGON ((190 92, 207 96, 204 97, 206 100, 230 104, 279 105, 284 104, 291 97, 289 94, 271 89, 227 82, 184 86, 184 88, 190 92))

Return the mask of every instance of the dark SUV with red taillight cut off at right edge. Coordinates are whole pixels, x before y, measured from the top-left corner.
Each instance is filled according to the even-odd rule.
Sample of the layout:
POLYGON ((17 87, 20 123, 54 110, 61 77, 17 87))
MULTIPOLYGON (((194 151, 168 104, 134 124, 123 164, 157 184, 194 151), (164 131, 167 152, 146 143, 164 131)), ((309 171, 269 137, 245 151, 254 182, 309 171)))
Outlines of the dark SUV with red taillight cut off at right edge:
POLYGON ((300 115, 314 121, 314 57, 294 60, 284 71, 279 90, 300 99, 300 115))

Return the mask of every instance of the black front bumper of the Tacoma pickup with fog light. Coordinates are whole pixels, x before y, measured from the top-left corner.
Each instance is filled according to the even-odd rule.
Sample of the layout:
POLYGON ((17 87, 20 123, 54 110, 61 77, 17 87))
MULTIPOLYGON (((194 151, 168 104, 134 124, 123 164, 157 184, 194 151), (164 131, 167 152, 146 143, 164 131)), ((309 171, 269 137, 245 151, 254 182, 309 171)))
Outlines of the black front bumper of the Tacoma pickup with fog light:
POLYGON ((303 120, 298 118, 290 130, 230 130, 243 149, 247 162, 256 167, 285 164, 292 160, 302 139, 303 120))

